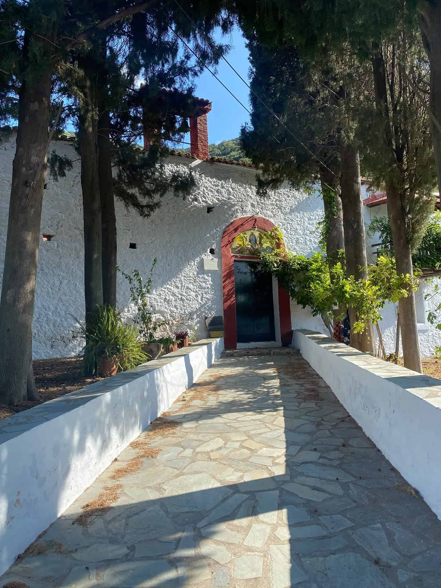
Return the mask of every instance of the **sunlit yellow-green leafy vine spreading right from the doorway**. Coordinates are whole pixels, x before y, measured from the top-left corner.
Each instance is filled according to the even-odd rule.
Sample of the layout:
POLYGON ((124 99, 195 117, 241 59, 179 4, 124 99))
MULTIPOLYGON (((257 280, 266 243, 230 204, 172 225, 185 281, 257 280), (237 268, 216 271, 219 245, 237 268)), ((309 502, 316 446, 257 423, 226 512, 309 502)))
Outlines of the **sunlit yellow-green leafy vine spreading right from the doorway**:
POLYGON ((272 240, 273 251, 254 251, 262 270, 278 278, 290 298, 302 308, 309 306, 313 316, 327 316, 332 322, 335 308, 342 309, 340 318, 343 318, 346 309, 352 306, 358 316, 358 321, 352 325, 353 332, 363 332, 369 320, 377 323, 382 319, 380 310, 386 302, 397 302, 419 285, 415 276, 397 275, 393 258, 380 256, 375 265, 367 268, 368 278, 356 280, 354 276, 345 275, 344 252, 340 252, 340 260, 330 268, 323 253, 306 258, 283 248, 278 228, 266 235, 272 240))

